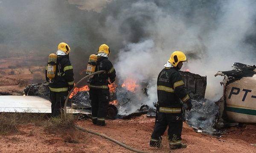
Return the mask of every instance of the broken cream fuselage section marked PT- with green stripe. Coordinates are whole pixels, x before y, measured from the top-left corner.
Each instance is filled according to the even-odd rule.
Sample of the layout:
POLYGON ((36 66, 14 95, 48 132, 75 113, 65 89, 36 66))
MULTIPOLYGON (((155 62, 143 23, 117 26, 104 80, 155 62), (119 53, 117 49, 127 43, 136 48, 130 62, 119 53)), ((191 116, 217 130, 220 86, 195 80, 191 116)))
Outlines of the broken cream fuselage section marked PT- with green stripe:
POLYGON ((234 63, 231 71, 218 71, 224 76, 223 97, 217 102, 222 123, 227 121, 256 123, 256 66, 234 63))

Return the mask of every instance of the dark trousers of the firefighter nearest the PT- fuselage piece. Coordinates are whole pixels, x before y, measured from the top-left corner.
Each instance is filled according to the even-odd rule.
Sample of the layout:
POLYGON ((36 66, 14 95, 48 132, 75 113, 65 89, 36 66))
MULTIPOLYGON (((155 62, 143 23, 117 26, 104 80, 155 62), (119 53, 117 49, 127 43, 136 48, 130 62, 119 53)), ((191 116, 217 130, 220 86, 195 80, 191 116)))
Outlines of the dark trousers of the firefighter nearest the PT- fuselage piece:
POLYGON ((162 135, 168 128, 168 139, 170 147, 177 147, 181 145, 181 131, 183 117, 182 113, 161 113, 157 114, 157 121, 154 126, 154 131, 151 135, 150 144, 160 144, 162 141, 162 135))

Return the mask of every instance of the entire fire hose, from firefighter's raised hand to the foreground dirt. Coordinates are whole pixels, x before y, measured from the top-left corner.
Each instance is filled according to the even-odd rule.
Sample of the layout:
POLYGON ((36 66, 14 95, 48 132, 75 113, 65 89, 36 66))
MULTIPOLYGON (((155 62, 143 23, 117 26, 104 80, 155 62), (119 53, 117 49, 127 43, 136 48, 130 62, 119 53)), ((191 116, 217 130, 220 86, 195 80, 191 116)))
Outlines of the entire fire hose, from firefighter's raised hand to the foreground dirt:
MULTIPOLYGON (((69 92, 69 94, 67 95, 67 98, 66 98, 66 100, 65 100, 65 104, 64 104, 64 112, 65 112, 65 113, 67 113, 68 97, 69 97, 70 94, 74 91, 74 89, 75 89, 79 84, 81 84, 81 82, 82 82, 83 80, 88 79, 90 76, 93 76, 94 74, 101 74, 101 73, 103 73, 103 72, 106 72, 106 71, 102 70, 102 71, 97 71, 97 72, 94 72, 94 73, 92 73, 92 74, 89 74, 89 75, 83 77, 81 80, 79 80, 79 82, 77 82, 76 85, 74 85, 74 87, 70 90, 70 92, 69 92)), ((136 153, 148 153, 148 152, 141 151, 141 150, 137 150, 137 149, 135 149, 135 148, 133 148, 133 147, 130 147, 130 146, 128 146, 128 145, 126 145, 126 144, 124 144, 124 143, 122 143, 122 142, 119 142, 119 141, 117 141, 117 140, 115 140, 115 139, 112 139, 111 137, 108 137, 108 136, 106 136, 106 135, 104 135, 104 134, 102 134, 102 133, 97 133, 97 132, 95 132, 95 131, 93 131, 93 130, 89 130, 89 129, 85 129, 85 128, 83 128, 83 127, 79 127, 78 125, 75 125, 75 127, 76 127, 77 129, 79 129, 79 130, 84 131, 84 132, 88 132, 88 133, 94 134, 94 135, 96 135, 96 136, 101 136, 101 137, 103 137, 103 138, 105 138, 105 139, 108 139, 108 140, 110 140, 110 141, 112 141, 112 142, 115 142, 116 144, 119 144, 120 146, 125 147, 126 149, 129 149, 129 150, 134 151, 134 152, 136 152, 136 153)))

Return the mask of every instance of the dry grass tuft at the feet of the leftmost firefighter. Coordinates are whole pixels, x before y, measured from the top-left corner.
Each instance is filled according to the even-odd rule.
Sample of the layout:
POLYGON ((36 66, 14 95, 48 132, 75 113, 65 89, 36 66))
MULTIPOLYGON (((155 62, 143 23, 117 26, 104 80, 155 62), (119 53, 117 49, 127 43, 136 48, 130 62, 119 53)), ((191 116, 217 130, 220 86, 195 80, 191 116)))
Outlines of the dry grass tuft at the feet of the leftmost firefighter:
POLYGON ((75 127, 75 116, 73 113, 65 113, 63 110, 58 117, 49 118, 48 122, 45 122, 46 130, 56 130, 56 129, 70 129, 75 127))

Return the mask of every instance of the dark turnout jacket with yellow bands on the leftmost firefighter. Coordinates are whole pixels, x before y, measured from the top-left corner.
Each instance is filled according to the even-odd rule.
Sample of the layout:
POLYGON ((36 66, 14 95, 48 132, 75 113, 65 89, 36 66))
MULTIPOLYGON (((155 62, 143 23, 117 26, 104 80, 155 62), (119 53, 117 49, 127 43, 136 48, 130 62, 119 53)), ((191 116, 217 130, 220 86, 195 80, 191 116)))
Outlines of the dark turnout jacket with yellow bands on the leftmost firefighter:
POLYGON ((71 65, 68 56, 69 55, 57 56, 56 75, 55 78, 52 79, 52 82, 49 82, 46 70, 46 80, 49 82, 50 91, 70 91, 74 87, 73 66, 71 65))

